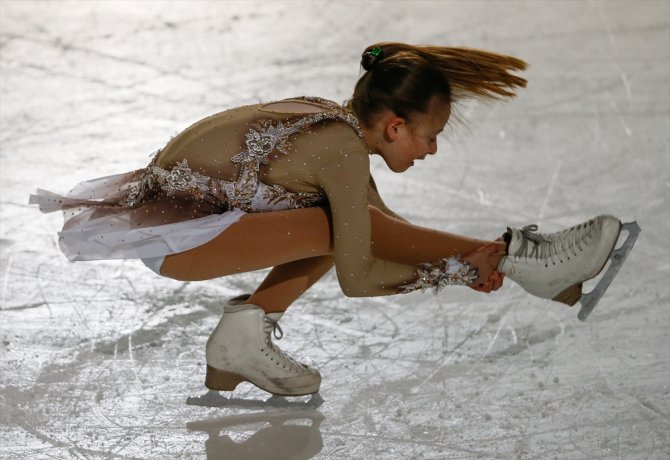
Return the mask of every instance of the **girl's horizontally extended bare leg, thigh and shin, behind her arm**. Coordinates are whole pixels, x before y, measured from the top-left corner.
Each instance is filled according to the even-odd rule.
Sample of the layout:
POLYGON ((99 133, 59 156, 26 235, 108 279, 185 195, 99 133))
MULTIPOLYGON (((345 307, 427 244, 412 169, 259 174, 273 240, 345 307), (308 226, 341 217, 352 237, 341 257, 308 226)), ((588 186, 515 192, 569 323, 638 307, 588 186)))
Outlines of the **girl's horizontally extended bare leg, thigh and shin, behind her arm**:
MULTIPOLYGON (((330 255, 329 219, 322 208, 247 214, 212 241, 167 256, 161 273, 197 281, 330 255)), ((373 255, 398 263, 414 265, 464 255, 492 243, 403 222, 372 206, 370 219, 373 255)), ((494 244, 504 251, 504 243, 494 244)))

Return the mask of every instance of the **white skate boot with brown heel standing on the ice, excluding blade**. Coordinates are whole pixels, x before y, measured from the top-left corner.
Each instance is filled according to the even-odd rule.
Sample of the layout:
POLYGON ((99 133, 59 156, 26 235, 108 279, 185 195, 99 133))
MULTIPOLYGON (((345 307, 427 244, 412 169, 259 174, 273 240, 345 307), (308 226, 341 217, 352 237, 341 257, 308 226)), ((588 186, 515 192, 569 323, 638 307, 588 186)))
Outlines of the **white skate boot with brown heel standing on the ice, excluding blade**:
POLYGON ((241 382, 280 396, 300 396, 319 391, 321 375, 295 361, 274 343, 280 339, 277 324, 282 313, 266 314, 245 303, 248 295, 231 299, 219 324, 207 341, 207 377, 211 390, 232 391, 241 382))

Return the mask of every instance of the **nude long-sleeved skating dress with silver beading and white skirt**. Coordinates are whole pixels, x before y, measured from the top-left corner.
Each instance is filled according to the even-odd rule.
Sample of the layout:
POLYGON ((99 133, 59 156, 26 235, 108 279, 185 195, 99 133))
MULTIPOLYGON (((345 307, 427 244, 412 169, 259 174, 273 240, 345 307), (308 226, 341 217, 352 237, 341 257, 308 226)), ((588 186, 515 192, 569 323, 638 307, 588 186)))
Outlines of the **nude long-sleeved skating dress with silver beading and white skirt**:
MULTIPOLYGON (((166 256, 211 241, 245 213, 323 206, 345 294, 426 287, 417 280, 438 266, 373 256, 368 205, 397 216, 377 193, 356 118, 323 99, 291 101, 305 112, 272 110, 281 103, 227 110, 177 135, 146 168, 80 183, 66 197, 39 190, 31 203, 43 212, 63 210, 59 243, 70 260, 139 258, 159 274, 166 256)), ((463 264, 450 264, 446 284, 464 284, 463 264)))

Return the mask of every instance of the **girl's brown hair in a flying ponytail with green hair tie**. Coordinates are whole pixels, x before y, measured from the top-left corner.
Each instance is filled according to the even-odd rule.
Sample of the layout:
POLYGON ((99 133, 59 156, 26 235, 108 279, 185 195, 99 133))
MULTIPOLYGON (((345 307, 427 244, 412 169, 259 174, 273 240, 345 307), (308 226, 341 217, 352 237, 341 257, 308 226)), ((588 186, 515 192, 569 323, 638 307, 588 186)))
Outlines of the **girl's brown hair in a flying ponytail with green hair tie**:
POLYGON ((383 42, 366 48, 361 65, 366 72, 347 105, 364 125, 385 109, 411 120, 436 95, 449 104, 495 100, 526 86, 512 73, 525 70, 524 61, 477 49, 383 42))

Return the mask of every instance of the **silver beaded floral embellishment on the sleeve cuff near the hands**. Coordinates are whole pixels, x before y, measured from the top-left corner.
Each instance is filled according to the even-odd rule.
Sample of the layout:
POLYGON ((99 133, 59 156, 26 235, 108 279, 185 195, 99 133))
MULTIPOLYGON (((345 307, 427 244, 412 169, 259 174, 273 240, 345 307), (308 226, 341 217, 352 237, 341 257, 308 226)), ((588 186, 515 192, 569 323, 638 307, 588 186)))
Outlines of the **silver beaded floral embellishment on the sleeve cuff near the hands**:
POLYGON ((432 263, 419 265, 417 270, 419 277, 416 281, 400 286, 402 293, 421 289, 425 291, 431 288, 437 294, 444 286, 466 286, 477 279, 476 268, 465 262, 461 257, 449 257, 438 259, 432 263))

